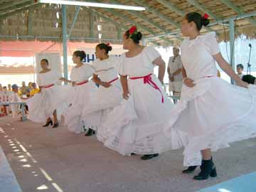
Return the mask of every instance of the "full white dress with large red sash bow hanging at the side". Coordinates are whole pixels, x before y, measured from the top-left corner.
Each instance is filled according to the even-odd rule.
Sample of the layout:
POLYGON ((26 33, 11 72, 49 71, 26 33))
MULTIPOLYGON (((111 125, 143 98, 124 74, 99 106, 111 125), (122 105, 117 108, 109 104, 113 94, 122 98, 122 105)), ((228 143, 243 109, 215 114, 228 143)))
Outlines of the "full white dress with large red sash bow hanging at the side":
POLYGON ((119 74, 130 78, 130 97, 114 107, 102 124, 105 129, 105 140, 102 142, 119 154, 156 154, 171 149, 171 141, 165 137, 164 128, 172 104, 161 82, 153 74, 152 62, 159 57, 159 53, 151 47, 145 47, 133 58, 121 55, 119 74), (131 79, 146 75, 147 78, 131 79))

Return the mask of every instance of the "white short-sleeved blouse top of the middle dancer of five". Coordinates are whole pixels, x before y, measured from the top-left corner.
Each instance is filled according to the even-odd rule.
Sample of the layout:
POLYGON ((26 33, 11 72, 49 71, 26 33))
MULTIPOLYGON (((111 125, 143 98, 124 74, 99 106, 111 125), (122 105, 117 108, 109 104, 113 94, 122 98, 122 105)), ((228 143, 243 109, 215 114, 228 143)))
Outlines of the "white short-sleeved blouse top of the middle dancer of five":
POLYGON ((101 81, 110 82, 118 77, 116 69, 118 62, 119 58, 114 55, 111 55, 105 60, 97 59, 92 63, 92 68, 95 70, 94 74, 99 75, 101 81))

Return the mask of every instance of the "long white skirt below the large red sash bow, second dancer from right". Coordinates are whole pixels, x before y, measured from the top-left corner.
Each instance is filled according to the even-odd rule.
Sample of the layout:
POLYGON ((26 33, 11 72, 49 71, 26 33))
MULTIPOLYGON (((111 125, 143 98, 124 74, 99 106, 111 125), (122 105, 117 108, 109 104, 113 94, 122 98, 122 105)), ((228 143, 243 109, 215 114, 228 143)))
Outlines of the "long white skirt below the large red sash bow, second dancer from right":
POLYGON ((144 84, 143 79, 128 80, 129 99, 114 107, 101 125, 105 134, 100 140, 119 154, 156 154, 171 149, 171 139, 164 135, 164 129, 173 105, 161 88, 161 82, 155 75, 151 78, 160 88, 164 103, 161 93, 144 84))

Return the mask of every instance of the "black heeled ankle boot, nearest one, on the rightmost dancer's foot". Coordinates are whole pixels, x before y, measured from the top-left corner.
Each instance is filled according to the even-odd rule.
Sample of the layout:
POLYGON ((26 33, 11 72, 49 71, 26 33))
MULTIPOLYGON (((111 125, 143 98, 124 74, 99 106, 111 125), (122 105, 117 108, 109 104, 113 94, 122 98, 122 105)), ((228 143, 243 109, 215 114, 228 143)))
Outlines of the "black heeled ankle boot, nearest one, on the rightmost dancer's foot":
POLYGON ((213 164, 213 158, 210 160, 203 160, 200 173, 197 176, 194 176, 193 178, 195 180, 206 180, 207 178, 209 178, 209 176, 217 176, 216 167, 213 164))

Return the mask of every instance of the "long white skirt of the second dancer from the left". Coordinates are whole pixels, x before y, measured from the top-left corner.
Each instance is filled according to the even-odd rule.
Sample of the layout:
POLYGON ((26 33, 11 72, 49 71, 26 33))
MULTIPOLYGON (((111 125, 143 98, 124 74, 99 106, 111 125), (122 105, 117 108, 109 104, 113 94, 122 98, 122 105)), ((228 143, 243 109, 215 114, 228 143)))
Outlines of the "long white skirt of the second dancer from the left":
POLYGON ((68 95, 70 98, 70 107, 62 114, 70 132, 80 133, 83 131, 83 126, 97 126, 100 121, 99 114, 87 114, 82 119, 82 110, 87 105, 90 105, 90 103, 96 101, 97 89, 97 86, 92 81, 73 87, 72 92, 68 95))

